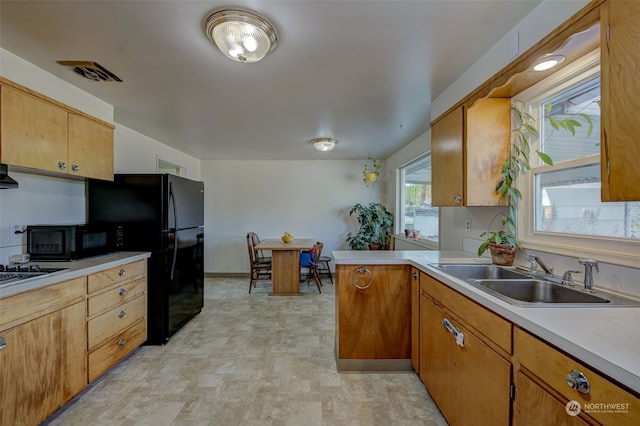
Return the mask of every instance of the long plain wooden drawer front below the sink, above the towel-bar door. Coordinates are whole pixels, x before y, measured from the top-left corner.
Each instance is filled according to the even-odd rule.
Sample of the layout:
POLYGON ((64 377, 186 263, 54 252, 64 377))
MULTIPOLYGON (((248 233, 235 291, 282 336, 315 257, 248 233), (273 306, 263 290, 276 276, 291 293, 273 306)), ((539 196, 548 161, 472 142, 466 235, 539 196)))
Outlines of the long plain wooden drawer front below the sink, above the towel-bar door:
POLYGON ((455 312, 458 319, 483 335, 507 354, 511 354, 511 323, 477 303, 467 299, 441 282, 425 275, 420 280, 421 291, 426 292, 440 306, 455 312))

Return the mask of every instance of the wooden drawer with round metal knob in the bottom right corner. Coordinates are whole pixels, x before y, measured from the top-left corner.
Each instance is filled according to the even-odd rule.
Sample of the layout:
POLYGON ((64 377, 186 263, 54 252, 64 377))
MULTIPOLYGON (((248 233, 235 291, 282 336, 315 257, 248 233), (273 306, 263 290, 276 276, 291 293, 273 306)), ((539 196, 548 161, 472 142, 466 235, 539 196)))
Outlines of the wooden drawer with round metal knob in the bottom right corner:
POLYGON ((565 398, 561 402, 578 401, 582 411, 604 424, 640 424, 640 399, 611 383, 594 370, 519 328, 514 332, 514 348, 520 365, 565 398), (569 387, 567 375, 572 370, 578 370, 587 377, 591 385, 589 393, 580 393, 569 387), (608 408, 606 404, 615 404, 615 406, 608 408), (622 406, 626 407, 625 412, 607 412, 622 406))

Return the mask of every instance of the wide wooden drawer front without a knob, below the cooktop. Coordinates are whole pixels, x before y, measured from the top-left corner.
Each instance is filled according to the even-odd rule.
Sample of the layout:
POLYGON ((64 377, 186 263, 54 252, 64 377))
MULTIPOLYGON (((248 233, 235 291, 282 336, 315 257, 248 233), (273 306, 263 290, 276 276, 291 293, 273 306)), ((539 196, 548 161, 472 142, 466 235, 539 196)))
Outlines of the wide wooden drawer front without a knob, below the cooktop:
POLYGON ((0 331, 84 299, 85 277, 0 299, 0 331))

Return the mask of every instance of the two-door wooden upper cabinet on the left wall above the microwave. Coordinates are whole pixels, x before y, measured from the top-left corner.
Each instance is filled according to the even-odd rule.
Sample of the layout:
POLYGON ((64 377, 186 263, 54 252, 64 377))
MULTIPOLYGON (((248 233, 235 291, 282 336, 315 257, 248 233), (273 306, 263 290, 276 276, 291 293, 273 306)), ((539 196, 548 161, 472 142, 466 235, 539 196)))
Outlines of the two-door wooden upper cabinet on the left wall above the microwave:
POLYGON ((114 126, 0 78, 0 161, 113 180, 114 126))

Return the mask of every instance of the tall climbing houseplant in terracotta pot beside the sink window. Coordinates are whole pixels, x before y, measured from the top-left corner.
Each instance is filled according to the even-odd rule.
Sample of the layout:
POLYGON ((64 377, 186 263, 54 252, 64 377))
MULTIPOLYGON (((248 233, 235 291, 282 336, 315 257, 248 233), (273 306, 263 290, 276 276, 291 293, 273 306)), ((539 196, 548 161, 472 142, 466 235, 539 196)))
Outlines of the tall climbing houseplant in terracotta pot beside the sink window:
MULTIPOLYGON (((586 124, 588 126, 587 136, 591 135, 593 123, 587 114, 578 112, 571 117, 557 119, 549 115, 552 107, 551 103, 547 103, 544 115, 540 119, 548 120, 554 130, 568 131, 575 135, 576 127, 582 127, 583 124, 586 124)), ((521 102, 514 103, 511 111, 512 119, 515 120, 514 130, 511 134, 511 154, 502 165, 500 179, 495 188, 496 193, 502 198, 508 199, 509 208, 507 212, 499 213, 503 229, 481 233, 480 237, 486 238, 478 247, 478 256, 482 256, 489 249, 493 262, 497 265, 512 265, 516 251, 522 248, 520 241, 515 237, 518 202, 522 199, 522 193, 516 187, 518 177, 531 170, 531 158, 534 154, 545 164, 553 165, 553 160, 548 154, 540 150, 533 152, 531 150, 532 142, 537 140, 539 136, 538 129, 534 126, 536 119, 524 111, 521 102)), ((492 223, 493 220, 489 224, 489 228, 492 223)))

